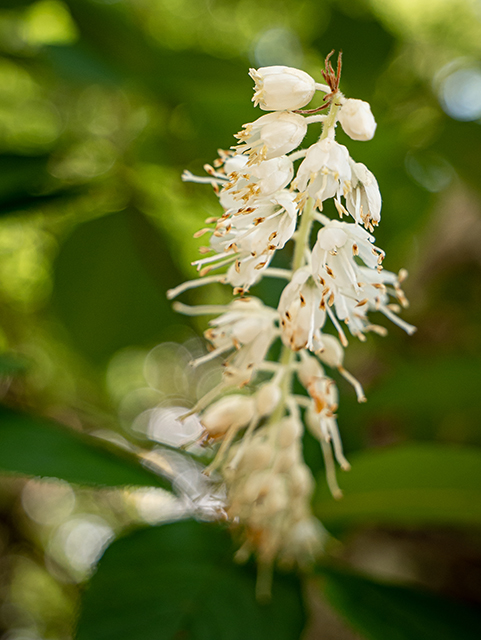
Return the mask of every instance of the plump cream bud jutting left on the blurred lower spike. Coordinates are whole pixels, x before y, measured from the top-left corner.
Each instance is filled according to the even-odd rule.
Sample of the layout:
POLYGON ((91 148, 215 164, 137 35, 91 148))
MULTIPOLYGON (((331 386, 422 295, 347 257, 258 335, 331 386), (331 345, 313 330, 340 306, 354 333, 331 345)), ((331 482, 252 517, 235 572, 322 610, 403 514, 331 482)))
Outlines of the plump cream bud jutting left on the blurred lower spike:
POLYGON ((210 436, 223 435, 232 428, 242 429, 252 420, 255 403, 251 397, 231 395, 212 404, 201 418, 210 436))

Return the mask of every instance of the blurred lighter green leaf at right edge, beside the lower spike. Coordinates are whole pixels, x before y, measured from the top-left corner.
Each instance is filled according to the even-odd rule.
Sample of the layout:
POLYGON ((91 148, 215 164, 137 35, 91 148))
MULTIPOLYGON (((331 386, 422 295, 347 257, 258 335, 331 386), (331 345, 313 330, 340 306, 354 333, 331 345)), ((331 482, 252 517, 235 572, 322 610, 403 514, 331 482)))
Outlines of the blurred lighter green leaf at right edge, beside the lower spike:
POLYGON ((324 481, 315 509, 328 528, 356 524, 481 525, 481 451, 416 443, 350 456, 342 500, 324 481))

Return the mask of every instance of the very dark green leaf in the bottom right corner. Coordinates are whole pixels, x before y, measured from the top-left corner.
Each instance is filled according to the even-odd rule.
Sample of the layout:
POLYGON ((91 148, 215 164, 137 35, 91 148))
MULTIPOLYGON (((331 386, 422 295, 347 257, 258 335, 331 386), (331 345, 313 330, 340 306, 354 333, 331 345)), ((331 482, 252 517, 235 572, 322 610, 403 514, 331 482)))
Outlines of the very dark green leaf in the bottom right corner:
POLYGON ((321 570, 330 604, 369 640, 477 640, 481 617, 462 603, 420 589, 321 570))

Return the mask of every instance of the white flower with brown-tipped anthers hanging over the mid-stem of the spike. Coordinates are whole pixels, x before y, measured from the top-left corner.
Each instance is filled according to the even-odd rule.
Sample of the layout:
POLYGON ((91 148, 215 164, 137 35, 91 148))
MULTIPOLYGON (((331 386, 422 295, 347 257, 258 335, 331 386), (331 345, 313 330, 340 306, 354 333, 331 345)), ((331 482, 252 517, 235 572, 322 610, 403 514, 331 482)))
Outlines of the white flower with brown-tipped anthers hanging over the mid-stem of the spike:
POLYGON ((321 295, 308 268, 298 269, 279 300, 281 338, 293 351, 322 348, 320 328, 326 312, 319 308, 321 295))

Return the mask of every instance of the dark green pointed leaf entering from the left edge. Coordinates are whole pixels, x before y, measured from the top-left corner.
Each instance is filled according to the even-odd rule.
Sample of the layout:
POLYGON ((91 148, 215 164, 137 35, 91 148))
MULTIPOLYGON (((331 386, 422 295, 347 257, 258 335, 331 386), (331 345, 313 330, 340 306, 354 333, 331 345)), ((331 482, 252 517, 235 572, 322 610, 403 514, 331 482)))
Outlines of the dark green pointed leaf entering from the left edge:
POLYGON ((123 450, 54 422, 0 407, 0 472, 104 487, 154 486, 163 478, 123 450))

